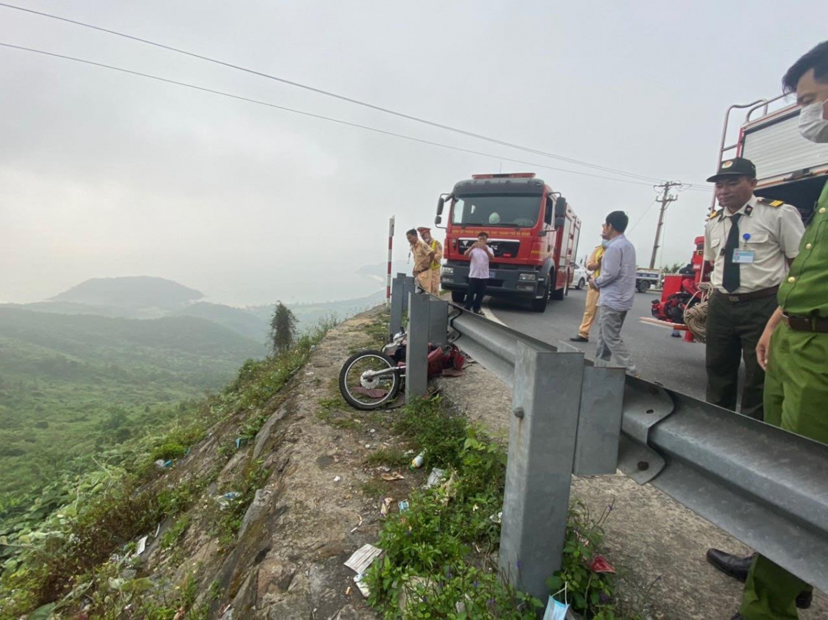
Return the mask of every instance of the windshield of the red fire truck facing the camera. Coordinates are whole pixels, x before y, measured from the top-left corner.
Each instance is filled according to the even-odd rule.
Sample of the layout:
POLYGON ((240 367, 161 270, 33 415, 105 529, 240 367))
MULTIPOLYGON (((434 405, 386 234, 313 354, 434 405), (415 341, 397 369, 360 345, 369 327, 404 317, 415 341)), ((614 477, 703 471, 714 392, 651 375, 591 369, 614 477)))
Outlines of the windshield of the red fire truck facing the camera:
POLYGON ((540 206, 540 195, 458 196, 451 207, 451 223, 532 228, 537 223, 540 206))

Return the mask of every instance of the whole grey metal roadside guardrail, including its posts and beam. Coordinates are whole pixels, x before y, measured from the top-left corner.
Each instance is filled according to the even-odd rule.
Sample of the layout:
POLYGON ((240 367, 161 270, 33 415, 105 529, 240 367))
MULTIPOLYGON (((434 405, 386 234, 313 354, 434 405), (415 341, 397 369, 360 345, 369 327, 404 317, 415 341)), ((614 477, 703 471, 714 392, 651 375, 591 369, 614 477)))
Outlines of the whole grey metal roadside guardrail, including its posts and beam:
MULTIPOLYGON (((425 353, 412 344, 424 348, 424 330, 434 336, 447 310, 453 342, 513 388, 501 568, 519 588, 545 596, 546 577, 560 567, 570 474, 614 473, 617 465, 828 591, 828 445, 418 297, 409 375, 425 377, 425 353)), ((392 322, 394 307, 402 303, 392 299, 392 322)))

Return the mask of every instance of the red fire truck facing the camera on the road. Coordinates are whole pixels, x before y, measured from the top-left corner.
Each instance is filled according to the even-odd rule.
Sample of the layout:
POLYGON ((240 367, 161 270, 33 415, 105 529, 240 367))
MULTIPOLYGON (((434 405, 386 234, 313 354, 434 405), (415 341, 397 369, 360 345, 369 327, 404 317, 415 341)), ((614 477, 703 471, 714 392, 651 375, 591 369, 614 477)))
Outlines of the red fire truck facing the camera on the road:
POLYGON ((566 295, 578 251, 580 219, 559 192, 532 172, 472 175, 440 195, 435 224, 445 228, 440 285, 465 300, 469 258, 463 252, 489 235, 494 260, 486 294, 530 300, 543 312, 566 295), (448 205, 445 227, 440 226, 448 205))

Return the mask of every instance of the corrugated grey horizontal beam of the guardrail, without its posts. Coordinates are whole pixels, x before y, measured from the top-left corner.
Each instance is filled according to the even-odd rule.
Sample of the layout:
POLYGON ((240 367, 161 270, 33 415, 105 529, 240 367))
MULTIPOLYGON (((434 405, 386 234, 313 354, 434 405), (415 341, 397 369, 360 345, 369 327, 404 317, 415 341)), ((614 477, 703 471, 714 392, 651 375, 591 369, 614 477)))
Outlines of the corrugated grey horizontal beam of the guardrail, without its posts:
MULTIPOLYGON (((510 386, 521 345, 558 350, 459 309, 450 327, 510 386)), ((621 431, 623 473, 828 590, 828 445, 635 377, 625 380, 621 431)))

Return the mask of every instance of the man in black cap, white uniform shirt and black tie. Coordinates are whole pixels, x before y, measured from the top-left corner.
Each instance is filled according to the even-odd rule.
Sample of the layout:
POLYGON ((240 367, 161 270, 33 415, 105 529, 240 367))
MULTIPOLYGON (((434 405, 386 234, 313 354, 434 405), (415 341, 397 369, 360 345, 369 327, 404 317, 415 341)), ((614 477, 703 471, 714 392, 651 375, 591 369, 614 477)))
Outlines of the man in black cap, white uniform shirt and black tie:
POLYGON ((756 345, 776 309, 776 294, 797 256, 805 227, 796 208, 753 195, 756 166, 722 161, 708 179, 721 209, 705 225, 705 260, 713 263, 707 305, 707 401, 736 410, 739 363, 745 377, 741 412, 762 419, 764 372, 756 345))

